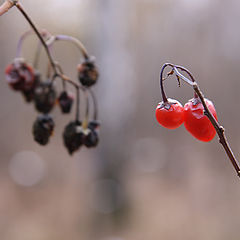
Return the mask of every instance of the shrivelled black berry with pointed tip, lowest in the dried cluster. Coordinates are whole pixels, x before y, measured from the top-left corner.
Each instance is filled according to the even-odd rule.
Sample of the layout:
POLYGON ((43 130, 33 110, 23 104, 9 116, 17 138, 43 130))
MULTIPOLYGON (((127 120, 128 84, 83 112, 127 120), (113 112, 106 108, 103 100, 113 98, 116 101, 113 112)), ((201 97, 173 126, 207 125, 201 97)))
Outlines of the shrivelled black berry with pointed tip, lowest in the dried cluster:
POLYGON ((63 141, 69 154, 73 154, 83 144, 84 134, 82 132, 81 122, 70 122, 64 129, 63 141))

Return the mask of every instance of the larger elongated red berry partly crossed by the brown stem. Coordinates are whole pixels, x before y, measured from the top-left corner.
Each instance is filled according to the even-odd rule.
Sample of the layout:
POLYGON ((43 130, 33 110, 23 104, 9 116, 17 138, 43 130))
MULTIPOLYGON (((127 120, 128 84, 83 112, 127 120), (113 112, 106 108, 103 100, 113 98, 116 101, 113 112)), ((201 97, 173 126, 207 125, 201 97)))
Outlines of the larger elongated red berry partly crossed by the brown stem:
MULTIPOLYGON (((214 118, 217 114, 213 103, 205 98, 206 105, 214 118)), ((216 130, 206 115, 199 99, 190 99, 184 106, 184 126, 198 140, 209 142, 216 135, 216 130)))

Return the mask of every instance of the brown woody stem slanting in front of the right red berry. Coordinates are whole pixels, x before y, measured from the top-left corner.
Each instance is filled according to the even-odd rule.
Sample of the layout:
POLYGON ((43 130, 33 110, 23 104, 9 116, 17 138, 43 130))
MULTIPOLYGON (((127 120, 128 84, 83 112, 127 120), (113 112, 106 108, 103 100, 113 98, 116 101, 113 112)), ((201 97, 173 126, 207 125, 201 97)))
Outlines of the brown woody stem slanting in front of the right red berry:
MULTIPOLYGON (((165 64, 166 65, 166 64, 165 64)), ((163 67, 165 67, 165 65, 163 65, 163 67)), ((201 102, 202 102, 202 105, 204 107, 204 114, 208 117, 208 119, 210 120, 210 122, 212 123, 212 125, 214 126, 214 128, 216 129, 216 132, 218 134, 218 137, 219 137, 219 142, 220 144, 222 144, 228 158, 230 159, 234 169, 236 170, 237 172, 237 175, 240 177, 240 165, 239 165, 239 162, 237 161, 237 159, 235 158, 232 150, 231 150, 231 147, 227 141, 227 138, 224 134, 224 128, 222 126, 219 125, 219 123, 217 122, 217 120, 214 118, 214 116, 212 115, 212 113, 209 111, 207 105, 206 105, 206 102, 205 102, 205 99, 204 99, 204 95, 203 93, 201 92, 198 84, 196 83, 196 81, 194 80, 192 74, 190 73, 190 71, 188 71, 186 68, 182 67, 182 66, 177 66, 177 65, 174 65, 174 64, 171 64, 171 63, 168 63, 167 64, 168 66, 171 66, 176 74, 176 76, 178 76, 180 79, 182 79, 183 81, 185 81, 186 83, 188 83, 189 85, 191 85, 194 89, 194 91, 196 92, 196 94, 198 95, 198 97, 200 98, 201 102), (191 80, 189 80, 188 78, 186 78, 184 75, 182 75, 178 69, 186 72, 191 80)))

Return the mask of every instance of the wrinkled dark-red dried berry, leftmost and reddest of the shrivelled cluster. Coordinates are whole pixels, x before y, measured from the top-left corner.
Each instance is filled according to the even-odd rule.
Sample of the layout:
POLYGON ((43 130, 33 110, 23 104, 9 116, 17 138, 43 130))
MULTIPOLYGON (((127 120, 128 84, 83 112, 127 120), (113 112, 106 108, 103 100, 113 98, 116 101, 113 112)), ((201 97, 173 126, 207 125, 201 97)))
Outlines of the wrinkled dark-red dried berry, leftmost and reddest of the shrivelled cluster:
POLYGON ((34 84, 34 71, 24 59, 16 58, 5 70, 6 81, 16 91, 28 91, 34 84))

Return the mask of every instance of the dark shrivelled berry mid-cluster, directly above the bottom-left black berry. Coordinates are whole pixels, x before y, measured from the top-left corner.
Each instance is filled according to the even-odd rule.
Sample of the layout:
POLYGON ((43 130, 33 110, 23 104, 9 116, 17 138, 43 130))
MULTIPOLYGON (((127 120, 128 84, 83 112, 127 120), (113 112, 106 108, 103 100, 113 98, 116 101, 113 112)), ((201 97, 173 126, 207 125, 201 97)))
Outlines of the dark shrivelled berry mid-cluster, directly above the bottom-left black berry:
POLYGON ((37 111, 49 113, 56 102, 56 91, 48 82, 41 82, 34 91, 34 103, 37 111))

